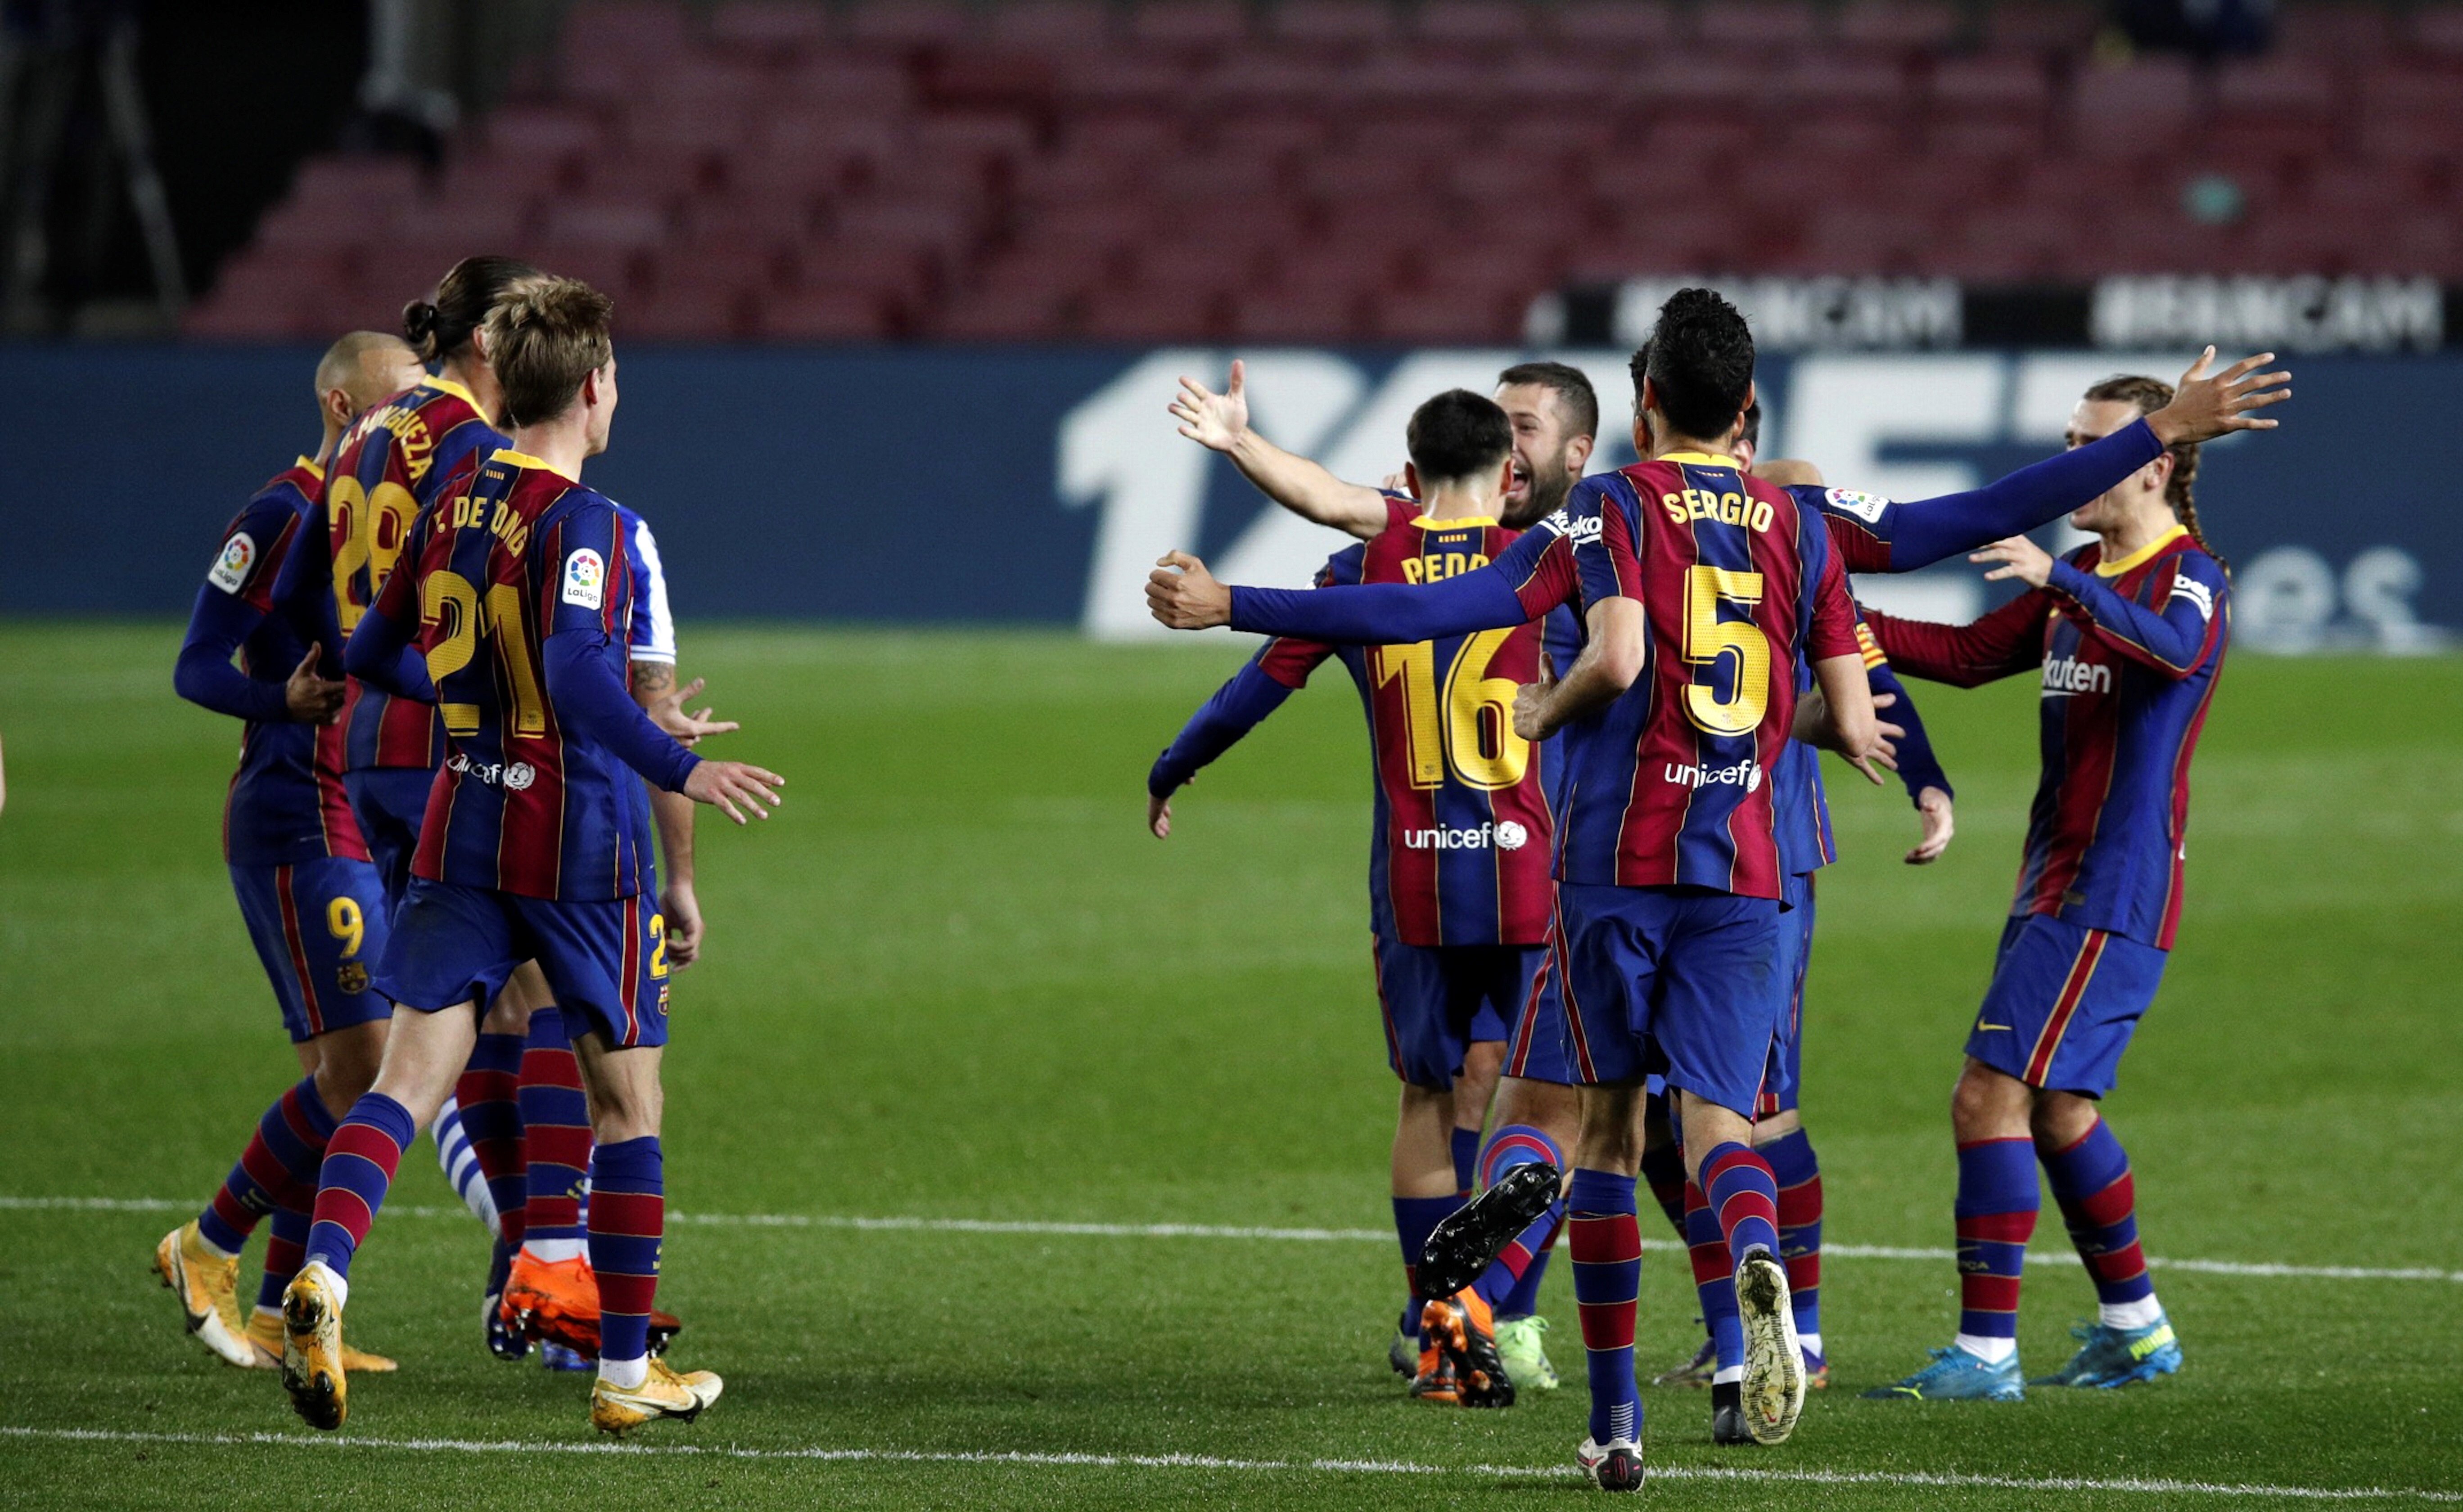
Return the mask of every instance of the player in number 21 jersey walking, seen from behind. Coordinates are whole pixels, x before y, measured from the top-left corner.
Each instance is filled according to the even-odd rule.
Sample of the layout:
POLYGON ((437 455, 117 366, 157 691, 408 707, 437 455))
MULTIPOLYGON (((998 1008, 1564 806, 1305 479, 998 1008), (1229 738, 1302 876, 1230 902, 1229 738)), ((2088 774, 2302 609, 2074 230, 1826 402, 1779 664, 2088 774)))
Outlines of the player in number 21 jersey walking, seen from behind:
POLYGON ((345 657, 362 680, 433 699, 451 758, 377 973, 397 1005, 384 1066, 335 1133, 308 1263, 283 1295, 283 1384, 320 1428, 347 1411, 352 1253, 401 1148, 468 1061, 480 1005, 522 960, 589 1022, 576 1049, 599 1138, 589 1246, 603 1308, 591 1421, 623 1433, 692 1418, 722 1389, 648 1354, 667 960, 665 921, 643 894, 648 810, 633 773, 739 822, 746 808, 768 815, 781 778, 695 756, 626 697, 635 584, 623 527, 576 480, 606 451, 616 411, 608 310, 579 281, 542 278, 490 313, 515 446, 470 493, 419 517, 414 566, 387 584, 345 657))

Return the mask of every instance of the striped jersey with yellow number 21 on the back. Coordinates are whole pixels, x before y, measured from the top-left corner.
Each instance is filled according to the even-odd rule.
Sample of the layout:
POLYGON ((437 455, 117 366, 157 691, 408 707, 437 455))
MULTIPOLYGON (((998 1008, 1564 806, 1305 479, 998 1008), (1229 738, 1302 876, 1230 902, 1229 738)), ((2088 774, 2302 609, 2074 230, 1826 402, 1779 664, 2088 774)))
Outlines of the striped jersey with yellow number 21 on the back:
POLYGON ((626 534, 603 495, 517 451, 490 456, 468 493, 419 517, 374 611, 416 621, 448 744, 414 877, 566 901, 648 884, 640 778, 566 729, 547 685, 547 640, 591 635, 623 687, 635 608, 626 534))

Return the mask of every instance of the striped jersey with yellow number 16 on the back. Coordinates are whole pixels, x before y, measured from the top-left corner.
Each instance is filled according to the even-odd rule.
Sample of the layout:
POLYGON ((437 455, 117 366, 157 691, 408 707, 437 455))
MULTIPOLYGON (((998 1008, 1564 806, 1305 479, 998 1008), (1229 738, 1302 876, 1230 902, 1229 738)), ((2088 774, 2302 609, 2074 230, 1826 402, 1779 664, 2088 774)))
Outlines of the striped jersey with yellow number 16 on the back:
MULTIPOLYGON (((1328 559, 1318 586, 1436 584, 1488 566, 1515 529, 1495 520, 1429 520, 1387 495, 1387 527, 1328 559)), ((1547 941, 1552 754, 1512 729, 1515 690, 1539 677, 1542 625, 1411 645, 1273 640, 1259 667, 1300 687, 1342 660, 1369 719, 1377 830, 1369 840, 1369 928, 1404 946, 1537 946, 1547 941)))

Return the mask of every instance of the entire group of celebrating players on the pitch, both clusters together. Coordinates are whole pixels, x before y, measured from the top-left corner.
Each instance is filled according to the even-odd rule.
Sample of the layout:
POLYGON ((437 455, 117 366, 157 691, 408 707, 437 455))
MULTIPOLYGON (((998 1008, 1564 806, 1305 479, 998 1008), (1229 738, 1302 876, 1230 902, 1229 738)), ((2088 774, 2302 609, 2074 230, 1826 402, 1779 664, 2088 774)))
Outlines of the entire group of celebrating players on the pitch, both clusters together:
MULTIPOLYGON (((342 335, 315 369, 318 453, 232 520, 180 653, 180 694, 246 729, 224 859, 300 1081, 232 1130, 229 1177, 155 1271, 187 1332, 278 1374, 318 1428, 345 1423, 355 1374, 397 1369, 345 1330, 350 1271, 384 1244, 424 1133, 475 1216, 468 1276, 433 1278, 478 1300, 473 1349, 591 1372, 608 1433, 722 1391, 667 1362, 690 1320, 655 1305, 660 1047, 672 975, 704 948, 695 808, 766 818, 781 778, 704 756, 734 724, 677 687, 660 552, 695 542, 650 534, 658 500, 584 483, 613 436, 613 325, 579 281, 466 259, 399 337, 342 335)), ((1909 682, 2027 672, 2042 783, 1953 1088, 1958 1317, 1874 1394, 2007 1401, 2185 1367, 2098 1098, 2180 928, 2190 768, 2229 645, 2197 448, 2273 428, 2288 374, 2268 362, 2217 369, 2209 350, 2177 384, 2098 382, 2066 451, 1926 500, 1759 458, 1754 337, 1702 288, 1633 355, 1640 460, 1613 473, 1586 463, 1628 396, 1562 362, 1429 396, 1384 485, 1249 428, 1239 364, 1222 392, 1158 394, 1190 443, 1357 542, 1310 589, 1158 564, 1158 621, 1266 643, 1155 758, 1148 825, 1170 835, 1175 800, 1202 803, 1180 788, 1342 662, 1374 771, 1365 980, 1401 1084, 1404 1273, 1374 1337, 1414 1399, 1510 1409, 1557 1386, 1537 1295, 1562 1249, 1579 1463, 1635 1490, 1648 1184, 1699 1298, 1663 1379, 1707 1386, 1719 1443, 1788 1438, 1828 1384, 1800 1108, 1835 859, 1820 751, 1894 773, 1919 820, 1906 859, 1931 862, 1958 751, 1931 746, 1909 682), (2027 539, 2064 517, 2094 539, 2027 539), (1968 625, 1852 598, 1850 574, 1961 557, 2020 593, 1968 625), (2044 1187, 2098 1310, 2027 1374, 2044 1187)))

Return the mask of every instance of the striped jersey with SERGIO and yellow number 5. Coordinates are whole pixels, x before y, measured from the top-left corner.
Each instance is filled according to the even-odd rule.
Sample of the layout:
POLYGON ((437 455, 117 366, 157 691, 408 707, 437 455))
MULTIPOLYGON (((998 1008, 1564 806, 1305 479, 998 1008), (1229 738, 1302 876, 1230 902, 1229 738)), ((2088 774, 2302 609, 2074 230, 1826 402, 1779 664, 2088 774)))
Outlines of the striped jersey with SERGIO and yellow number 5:
POLYGON ((1798 677, 1855 648, 1828 529, 1707 453, 1586 478, 1569 512, 1584 601, 1638 601, 1648 655, 1566 726, 1557 877, 1776 899, 1798 677))

